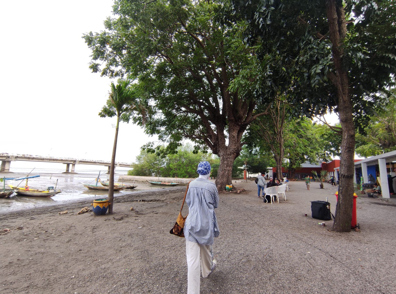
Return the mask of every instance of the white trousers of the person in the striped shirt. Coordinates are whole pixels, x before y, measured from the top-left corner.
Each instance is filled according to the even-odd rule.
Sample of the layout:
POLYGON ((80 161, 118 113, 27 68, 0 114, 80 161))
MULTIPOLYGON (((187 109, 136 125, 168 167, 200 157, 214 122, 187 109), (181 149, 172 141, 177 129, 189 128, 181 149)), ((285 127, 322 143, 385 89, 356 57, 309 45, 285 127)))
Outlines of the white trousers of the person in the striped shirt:
POLYGON ((200 245, 186 240, 186 256, 187 294, 199 294, 200 267, 202 267, 202 277, 204 278, 208 277, 212 270, 212 246, 200 245))

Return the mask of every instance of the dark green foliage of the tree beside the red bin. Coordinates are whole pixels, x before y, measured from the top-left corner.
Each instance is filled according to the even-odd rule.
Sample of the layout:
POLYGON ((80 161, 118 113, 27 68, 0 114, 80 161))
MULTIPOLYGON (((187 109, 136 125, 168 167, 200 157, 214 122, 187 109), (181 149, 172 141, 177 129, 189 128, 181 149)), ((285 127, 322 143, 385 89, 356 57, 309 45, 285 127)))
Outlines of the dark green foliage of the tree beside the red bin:
MULTIPOLYGON (((239 0, 232 1, 232 8, 237 19, 249 24, 244 42, 259 45, 260 73, 267 74, 268 68, 272 73, 267 74, 267 82, 257 81, 261 101, 272 95, 268 84, 275 84, 280 92, 290 94, 293 115, 310 117, 337 110, 334 45, 323 1, 239 0), (269 23, 264 21, 268 15, 269 23)), ((377 93, 395 85, 396 7, 392 1, 353 0, 345 10, 348 31, 340 46, 342 67, 349 75, 355 126, 362 126, 369 121, 367 115, 386 101, 386 95, 377 93)))

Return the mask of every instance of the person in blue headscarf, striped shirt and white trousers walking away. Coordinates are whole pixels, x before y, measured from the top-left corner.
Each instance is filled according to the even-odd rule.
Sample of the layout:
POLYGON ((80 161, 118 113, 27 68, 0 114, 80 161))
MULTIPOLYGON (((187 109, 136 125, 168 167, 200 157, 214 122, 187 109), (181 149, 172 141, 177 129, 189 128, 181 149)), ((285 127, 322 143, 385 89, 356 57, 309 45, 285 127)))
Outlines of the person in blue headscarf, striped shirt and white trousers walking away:
POLYGON ((208 180, 211 166, 208 161, 198 164, 199 177, 190 182, 186 202, 188 216, 184 224, 187 256, 187 294, 199 294, 200 269, 202 277, 209 277, 216 269, 212 244, 219 227, 215 208, 219 205, 216 185, 208 180))

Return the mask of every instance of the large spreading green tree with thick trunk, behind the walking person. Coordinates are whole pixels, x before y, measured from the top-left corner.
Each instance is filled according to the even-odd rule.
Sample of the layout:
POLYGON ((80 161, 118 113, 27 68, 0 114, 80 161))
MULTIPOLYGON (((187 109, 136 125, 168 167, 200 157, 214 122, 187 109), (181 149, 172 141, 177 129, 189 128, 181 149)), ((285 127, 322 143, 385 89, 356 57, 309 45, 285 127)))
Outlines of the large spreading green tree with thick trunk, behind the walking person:
POLYGON ((105 31, 84 35, 93 53, 90 68, 137 76, 156 109, 147 134, 167 142, 168 153, 183 138, 196 151, 210 149, 221 159, 216 185, 224 190, 242 135, 262 114, 255 112, 261 78, 255 49, 242 44, 244 23, 224 22, 221 0, 118 0, 113 9, 117 17, 105 21, 105 31))

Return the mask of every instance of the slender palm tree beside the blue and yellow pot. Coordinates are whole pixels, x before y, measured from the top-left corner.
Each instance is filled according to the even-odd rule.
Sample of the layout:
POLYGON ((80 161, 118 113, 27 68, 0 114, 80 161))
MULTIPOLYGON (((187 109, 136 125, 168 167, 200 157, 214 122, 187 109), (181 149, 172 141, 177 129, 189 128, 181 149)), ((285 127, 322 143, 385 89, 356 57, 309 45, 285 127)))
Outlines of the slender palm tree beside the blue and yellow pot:
POLYGON ((117 116, 116 134, 114 136, 113 152, 111 155, 110 163, 110 176, 109 176, 109 214, 113 213, 114 202, 114 165, 116 161, 116 149, 118 138, 118 127, 120 120, 129 122, 133 113, 141 115, 141 124, 144 125, 146 118, 147 105, 145 99, 142 97, 141 91, 133 87, 133 80, 123 80, 122 82, 114 85, 111 82, 111 91, 109 92, 109 99, 107 105, 104 106, 99 113, 101 117, 117 116))

